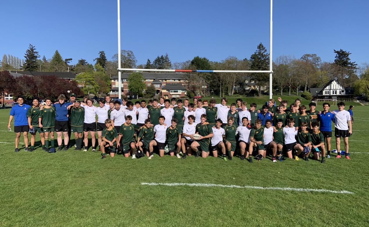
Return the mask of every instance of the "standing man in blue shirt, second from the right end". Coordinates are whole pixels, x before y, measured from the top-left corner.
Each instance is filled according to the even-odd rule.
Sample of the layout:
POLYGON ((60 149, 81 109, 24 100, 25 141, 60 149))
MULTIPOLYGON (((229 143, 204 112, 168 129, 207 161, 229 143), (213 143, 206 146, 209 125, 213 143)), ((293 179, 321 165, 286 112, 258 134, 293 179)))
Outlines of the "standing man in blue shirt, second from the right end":
POLYGON ((327 158, 331 154, 331 138, 332 138, 332 122, 334 122, 334 114, 329 111, 331 105, 328 102, 323 103, 323 111, 318 114, 318 122, 320 122, 320 132, 323 133, 325 148, 327 148, 327 158))

